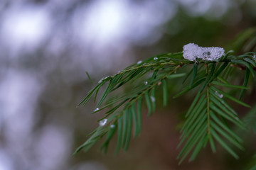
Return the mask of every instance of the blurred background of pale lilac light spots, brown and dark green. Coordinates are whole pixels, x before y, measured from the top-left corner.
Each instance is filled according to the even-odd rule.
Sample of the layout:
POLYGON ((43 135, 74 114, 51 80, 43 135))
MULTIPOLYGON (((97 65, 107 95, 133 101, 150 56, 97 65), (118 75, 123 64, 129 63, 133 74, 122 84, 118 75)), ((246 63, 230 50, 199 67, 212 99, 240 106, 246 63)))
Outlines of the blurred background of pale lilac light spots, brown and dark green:
POLYGON ((94 103, 76 108, 95 85, 86 72, 97 82, 188 42, 226 47, 252 26, 255 0, 1 0, 0 170, 242 169, 253 149, 235 160, 206 147, 178 166, 178 125, 191 98, 144 116, 127 153, 114 156, 113 141, 107 155, 98 146, 72 154, 103 114, 90 114, 94 103))

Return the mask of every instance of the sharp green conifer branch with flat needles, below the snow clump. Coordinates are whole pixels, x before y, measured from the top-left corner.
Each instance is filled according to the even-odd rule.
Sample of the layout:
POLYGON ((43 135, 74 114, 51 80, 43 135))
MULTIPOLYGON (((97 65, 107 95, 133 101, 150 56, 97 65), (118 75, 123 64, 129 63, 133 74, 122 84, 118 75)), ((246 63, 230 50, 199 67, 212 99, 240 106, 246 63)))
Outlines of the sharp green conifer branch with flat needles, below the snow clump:
POLYGON ((195 63, 185 60, 182 52, 166 53, 150 57, 127 67, 118 74, 102 79, 89 91, 79 106, 87 104, 93 96, 96 101, 98 91, 105 86, 105 91, 92 113, 106 109, 105 116, 101 120, 107 118, 107 123, 92 132, 89 139, 78 147, 75 153, 80 149, 87 151, 104 136, 106 136, 105 142, 101 149, 107 152, 107 147, 115 133, 117 133, 116 152, 118 153, 120 149, 127 150, 131 137, 137 137, 142 130, 142 104, 146 104, 150 116, 156 110, 156 90, 163 91, 163 104, 166 106, 169 97, 168 84, 183 79, 184 87, 174 98, 192 89, 197 91, 197 94, 181 128, 181 142, 178 147, 182 149, 178 154, 179 163, 189 154, 189 160, 193 161, 206 145, 210 145, 213 152, 216 152, 215 145, 221 145, 238 159, 235 148, 243 149, 242 139, 230 127, 237 126, 242 130, 247 128, 228 103, 233 102, 250 108, 240 99, 248 89, 247 84, 250 79, 255 77, 256 52, 247 52, 238 56, 230 54, 232 52, 227 52, 219 60, 198 60, 195 63), (186 72, 187 68, 191 68, 191 71, 186 72), (242 86, 232 84, 229 79, 234 69, 245 70, 242 86), (190 81, 186 83, 188 79, 190 81), (131 86, 132 89, 130 88, 122 96, 107 100, 107 96, 117 89, 127 89, 131 86), (227 92, 230 89, 240 92, 239 98, 227 92))

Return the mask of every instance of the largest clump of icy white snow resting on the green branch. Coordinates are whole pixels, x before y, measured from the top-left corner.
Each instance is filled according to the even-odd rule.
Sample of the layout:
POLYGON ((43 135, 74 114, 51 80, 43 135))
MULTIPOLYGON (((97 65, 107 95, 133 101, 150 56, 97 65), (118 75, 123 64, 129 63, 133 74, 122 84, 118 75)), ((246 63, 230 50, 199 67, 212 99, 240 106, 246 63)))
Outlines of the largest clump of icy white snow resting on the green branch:
POLYGON ((225 53, 222 47, 199 47, 194 43, 189 43, 183 46, 183 57, 186 60, 196 61, 202 60, 216 60, 222 57, 225 53))

